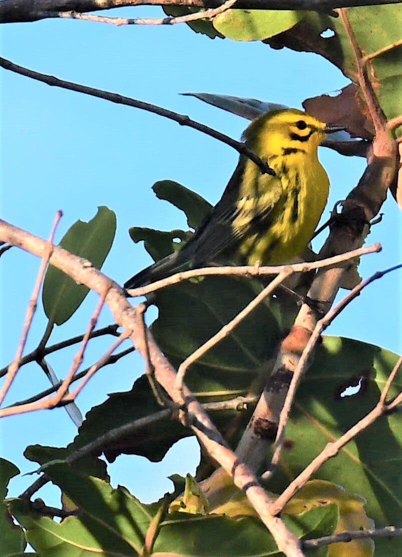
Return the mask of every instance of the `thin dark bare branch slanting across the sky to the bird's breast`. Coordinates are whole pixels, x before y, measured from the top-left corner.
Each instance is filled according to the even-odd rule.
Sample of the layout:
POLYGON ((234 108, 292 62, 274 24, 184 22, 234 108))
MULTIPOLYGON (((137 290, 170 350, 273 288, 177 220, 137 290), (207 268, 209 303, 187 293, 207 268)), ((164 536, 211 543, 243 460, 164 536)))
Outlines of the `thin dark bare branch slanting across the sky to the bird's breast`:
POLYGON ((201 131, 202 133, 209 135, 214 139, 222 141, 222 143, 226 143, 226 145, 234 148, 240 154, 248 157, 257 165, 257 167, 259 167, 263 174, 270 174, 272 176, 275 175, 274 170, 272 170, 272 168, 270 168, 264 160, 260 159, 260 157, 257 157, 257 155, 253 153, 249 148, 247 148, 247 146, 241 141, 236 141, 235 139, 230 138, 228 135, 220 133, 220 131, 216 131, 212 128, 209 128, 209 126, 191 120, 190 118, 188 118, 188 116, 185 116, 183 114, 177 114, 172 110, 167 110, 165 108, 162 108, 161 106, 152 105, 149 102, 132 99, 131 97, 118 95, 117 93, 103 91, 101 89, 94 89, 93 87, 87 87, 86 85, 80 85, 77 83, 73 83, 72 81, 64 81, 62 79, 58 79, 58 77, 54 77, 51 75, 41 74, 37 71, 18 66, 17 64, 14 64, 13 62, 10 62, 9 60, 1 57, 0 66, 3 67, 5 70, 16 72, 16 74, 31 77, 31 79, 36 79, 37 81, 42 81, 42 83, 46 83, 47 85, 61 87, 62 89, 76 91, 85 95, 91 95, 93 97, 98 97, 98 99, 105 99, 107 101, 116 102, 116 104, 133 106, 134 108, 146 110, 153 114, 158 114, 159 116, 163 116, 164 118, 173 120, 181 126, 188 126, 188 128, 193 128, 195 130, 201 131))

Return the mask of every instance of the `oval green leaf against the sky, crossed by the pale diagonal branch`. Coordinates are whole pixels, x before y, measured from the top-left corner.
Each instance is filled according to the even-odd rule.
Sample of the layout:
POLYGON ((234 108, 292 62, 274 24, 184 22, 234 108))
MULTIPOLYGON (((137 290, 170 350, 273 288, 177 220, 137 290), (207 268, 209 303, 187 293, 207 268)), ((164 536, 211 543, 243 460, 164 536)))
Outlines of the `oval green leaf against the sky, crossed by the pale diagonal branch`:
MULTIPOLYGON (((107 207, 89 222, 77 221, 64 234, 59 246, 101 268, 112 247, 116 232, 116 215, 107 207)), ((44 312, 51 323, 62 325, 80 307, 89 290, 78 285, 56 267, 50 266, 43 282, 42 301, 44 312)))

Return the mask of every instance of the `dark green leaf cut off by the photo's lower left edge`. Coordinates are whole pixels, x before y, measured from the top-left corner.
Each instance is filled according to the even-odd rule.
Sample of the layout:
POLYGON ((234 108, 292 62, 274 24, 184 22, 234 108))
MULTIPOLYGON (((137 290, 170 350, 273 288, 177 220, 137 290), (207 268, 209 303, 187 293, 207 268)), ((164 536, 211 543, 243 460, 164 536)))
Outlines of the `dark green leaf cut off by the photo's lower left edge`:
POLYGON ((17 466, 12 462, 0 458, 0 557, 9 557, 11 554, 23 553, 26 548, 24 532, 21 527, 13 523, 3 499, 7 496, 9 480, 19 474, 17 466))

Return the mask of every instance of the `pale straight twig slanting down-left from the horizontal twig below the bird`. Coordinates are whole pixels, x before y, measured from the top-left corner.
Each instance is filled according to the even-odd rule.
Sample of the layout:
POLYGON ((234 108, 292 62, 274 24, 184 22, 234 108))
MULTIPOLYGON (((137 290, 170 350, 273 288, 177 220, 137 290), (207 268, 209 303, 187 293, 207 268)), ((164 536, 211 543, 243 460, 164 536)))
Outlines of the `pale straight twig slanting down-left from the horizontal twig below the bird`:
POLYGON ((211 350, 213 346, 218 344, 221 340, 226 338, 226 336, 230 335, 232 330, 241 323, 242 320, 245 319, 247 315, 254 310, 257 305, 259 305, 267 296, 271 294, 272 291, 276 289, 277 286, 281 284, 285 280, 286 277, 292 274, 291 268, 285 268, 279 275, 277 275, 274 280, 270 282, 263 290, 261 290, 260 294, 258 294, 249 304, 246 305, 237 315, 229 321, 226 325, 224 325, 214 336, 211 336, 209 340, 207 340, 204 344, 202 344, 197 350, 193 351, 190 356, 188 356, 179 366, 176 375, 176 382, 175 387, 178 390, 182 390, 183 380, 185 374, 187 372, 188 367, 193 364, 198 358, 201 358, 208 350, 211 350))

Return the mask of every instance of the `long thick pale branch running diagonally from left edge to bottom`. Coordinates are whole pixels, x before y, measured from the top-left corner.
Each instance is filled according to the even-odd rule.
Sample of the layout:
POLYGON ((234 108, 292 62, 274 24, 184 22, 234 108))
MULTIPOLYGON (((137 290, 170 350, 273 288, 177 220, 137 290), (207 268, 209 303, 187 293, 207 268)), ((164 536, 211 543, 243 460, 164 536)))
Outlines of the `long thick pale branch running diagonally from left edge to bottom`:
MULTIPOLYGON (((41 240, 33 234, 29 234, 17 227, 11 226, 4 221, 0 221, 0 240, 6 241, 13 245, 23 248, 41 257, 43 252, 46 251, 46 242, 41 240)), ((87 267, 83 265, 82 260, 66 252, 61 247, 55 246, 53 254, 50 259, 54 267, 59 268, 69 276, 84 284, 90 289, 102 294, 105 290, 108 291, 106 296, 106 303, 110 307, 116 323, 124 328, 131 330, 131 340, 138 346, 141 345, 141 332, 138 328, 138 315, 135 307, 131 307, 125 299, 125 293, 110 278, 102 275, 94 267, 87 267)), ((183 398, 177 389, 175 389, 175 370, 166 360, 161 350, 156 345, 152 338, 151 333, 148 331, 148 345, 150 350, 150 358, 153 366, 155 367, 155 377, 162 385, 166 392, 171 396, 173 402, 177 404, 183 403, 183 398)), ((138 348, 141 350, 140 348, 138 348)), ((267 529, 270 530, 274 540, 286 557, 303 557, 300 549, 300 540, 287 529, 284 522, 278 517, 272 516, 269 511, 269 506, 272 500, 266 494, 258 482, 256 476, 249 467, 239 461, 233 451, 227 446, 224 438, 217 431, 210 418, 202 409, 200 403, 197 402, 185 385, 183 385, 183 397, 185 398, 186 418, 187 423, 192 431, 197 435, 200 442, 204 445, 209 452, 211 458, 215 459, 222 468, 231 476, 235 485, 245 492, 247 499, 260 516, 261 521, 265 524, 267 529)), ((39 485, 46 483, 46 480, 39 478, 34 482, 35 488, 39 485)), ((25 496, 32 494, 33 486, 28 488, 25 496)))

